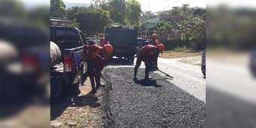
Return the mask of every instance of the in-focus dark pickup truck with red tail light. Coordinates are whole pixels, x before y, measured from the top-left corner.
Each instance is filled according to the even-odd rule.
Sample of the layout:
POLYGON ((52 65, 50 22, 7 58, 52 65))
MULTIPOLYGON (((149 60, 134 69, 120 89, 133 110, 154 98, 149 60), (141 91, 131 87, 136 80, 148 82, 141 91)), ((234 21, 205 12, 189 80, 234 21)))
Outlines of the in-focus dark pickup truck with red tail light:
POLYGON ((50 26, 50 41, 60 51, 60 55, 56 54, 58 52, 54 50, 58 48, 50 47, 50 96, 80 93, 87 72, 83 53, 86 43, 84 33, 72 27, 50 26))

